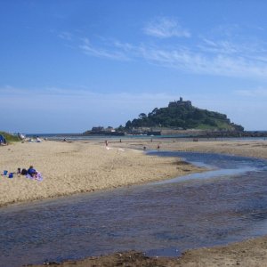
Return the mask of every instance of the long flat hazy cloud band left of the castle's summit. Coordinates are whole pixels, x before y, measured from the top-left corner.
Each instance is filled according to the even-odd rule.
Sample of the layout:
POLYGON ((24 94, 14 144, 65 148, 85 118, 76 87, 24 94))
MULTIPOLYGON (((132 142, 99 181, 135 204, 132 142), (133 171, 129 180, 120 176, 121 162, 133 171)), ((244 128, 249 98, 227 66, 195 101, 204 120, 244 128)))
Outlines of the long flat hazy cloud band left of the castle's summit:
MULTIPOLYGON (((50 87, 42 90, 12 88, 0 88, 0 109, 10 106, 10 98, 16 109, 91 109, 97 110, 99 106, 105 107, 105 111, 111 109, 140 109, 140 107, 154 108, 155 104, 166 105, 174 99, 173 94, 167 93, 93 93, 89 89, 65 89, 50 87), (20 103, 23 105, 20 105, 20 103), (73 105, 75 103, 75 105, 73 105), (85 108, 86 107, 86 108, 85 108)), ((141 110, 142 111, 142 110, 141 110)), ((97 111, 96 111, 97 112, 97 111)), ((144 111, 145 112, 145 111, 144 111)))

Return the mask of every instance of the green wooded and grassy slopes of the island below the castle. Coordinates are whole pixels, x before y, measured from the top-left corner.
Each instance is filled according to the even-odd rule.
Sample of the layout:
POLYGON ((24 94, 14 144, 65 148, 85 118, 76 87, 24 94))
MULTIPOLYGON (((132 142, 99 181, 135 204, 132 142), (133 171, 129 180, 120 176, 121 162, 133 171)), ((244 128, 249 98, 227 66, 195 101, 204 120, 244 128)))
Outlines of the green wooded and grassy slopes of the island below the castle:
POLYGON ((148 115, 141 113, 139 118, 128 120, 125 129, 138 127, 167 127, 180 129, 199 130, 225 130, 244 131, 241 125, 231 123, 226 115, 198 109, 191 105, 178 104, 169 105, 167 108, 153 109, 148 115))

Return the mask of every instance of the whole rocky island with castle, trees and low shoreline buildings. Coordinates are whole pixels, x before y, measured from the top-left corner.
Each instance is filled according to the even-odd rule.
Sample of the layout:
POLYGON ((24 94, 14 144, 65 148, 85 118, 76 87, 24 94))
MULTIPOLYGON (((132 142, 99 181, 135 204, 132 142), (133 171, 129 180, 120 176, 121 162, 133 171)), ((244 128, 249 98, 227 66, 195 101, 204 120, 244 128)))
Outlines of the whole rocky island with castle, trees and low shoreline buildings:
POLYGON ((171 101, 166 108, 155 108, 149 114, 141 113, 138 118, 128 120, 125 126, 93 127, 84 134, 126 135, 126 134, 189 134, 189 133, 243 133, 241 125, 231 123, 222 113, 198 109, 191 101, 171 101))

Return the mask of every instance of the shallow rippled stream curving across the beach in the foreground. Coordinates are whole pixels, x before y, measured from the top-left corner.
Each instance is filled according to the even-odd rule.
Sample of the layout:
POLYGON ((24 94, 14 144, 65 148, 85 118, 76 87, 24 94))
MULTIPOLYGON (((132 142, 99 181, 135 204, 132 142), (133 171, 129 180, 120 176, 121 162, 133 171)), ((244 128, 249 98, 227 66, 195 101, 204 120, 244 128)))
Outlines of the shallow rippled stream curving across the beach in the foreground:
MULTIPOLYGON (((135 249, 185 249, 267 234, 267 162, 155 152, 213 171, 0 209, 0 264, 21 266, 135 249)), ((151 154, 155 154, 151 153, 151 154)))

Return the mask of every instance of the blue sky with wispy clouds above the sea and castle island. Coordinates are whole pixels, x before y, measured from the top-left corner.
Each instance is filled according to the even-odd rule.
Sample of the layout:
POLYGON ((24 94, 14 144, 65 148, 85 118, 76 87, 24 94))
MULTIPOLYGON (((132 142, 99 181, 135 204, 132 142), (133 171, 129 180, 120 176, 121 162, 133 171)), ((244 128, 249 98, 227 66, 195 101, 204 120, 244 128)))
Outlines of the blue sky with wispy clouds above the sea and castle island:
POLYGON ((0 129, 83 133, 169 101, 267 130, 267 1, 0 0, 0 129))

